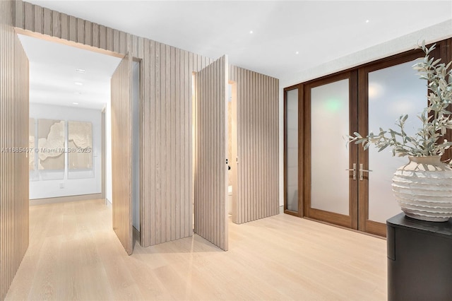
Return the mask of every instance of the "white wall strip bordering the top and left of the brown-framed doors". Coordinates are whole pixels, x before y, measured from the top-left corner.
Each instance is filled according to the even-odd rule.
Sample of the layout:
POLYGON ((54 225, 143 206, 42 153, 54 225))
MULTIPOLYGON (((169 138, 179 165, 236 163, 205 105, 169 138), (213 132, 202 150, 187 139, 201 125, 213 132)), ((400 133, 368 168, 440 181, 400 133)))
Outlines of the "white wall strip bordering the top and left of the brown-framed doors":
POLYGON ((398 37, 395 40, 369 47, 359 52, 349 54, 340 59, 329 61, 314 68, 280 78, 280 206, 284 205, 284 88, 311 79, 326 76, 337 71, 346 70, 354 66, 366 64, 370 61, 389 57, 393 54, 414 49, 417 44, 425 40, 428 43, 452 37, 452 19, 418 30, 415 33, 398 37))

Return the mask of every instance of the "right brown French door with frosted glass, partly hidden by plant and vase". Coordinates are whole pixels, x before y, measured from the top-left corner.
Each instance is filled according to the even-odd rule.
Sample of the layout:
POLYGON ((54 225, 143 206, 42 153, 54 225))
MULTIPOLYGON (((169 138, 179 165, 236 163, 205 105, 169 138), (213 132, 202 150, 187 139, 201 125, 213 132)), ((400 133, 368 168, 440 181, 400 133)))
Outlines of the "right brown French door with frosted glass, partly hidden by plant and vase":
MULTIPOLYGON (((421 126, 417 114, 427 105, 426 82, 412 69, 422 56, 414 53, 359 69, 359 133, 378 133, 380 127, 398 130, 396 119, 408 114, 405 131, 415 134, 421 126)), ((358 147, 358 230, 386 236, 386 220, 401 212, 391 190, 393 173, 407 163, 407 157, 393 156, 390 148, 379 152, 358 147)))

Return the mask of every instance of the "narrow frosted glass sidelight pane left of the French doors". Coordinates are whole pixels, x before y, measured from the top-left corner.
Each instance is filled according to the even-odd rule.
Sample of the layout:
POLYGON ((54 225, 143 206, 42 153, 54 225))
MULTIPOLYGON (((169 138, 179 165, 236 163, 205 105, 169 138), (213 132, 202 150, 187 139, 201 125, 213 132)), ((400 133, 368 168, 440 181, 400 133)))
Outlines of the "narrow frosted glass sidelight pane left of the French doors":
POLYGON ((286 208, 298 212, 298 89, 286 92, 286 208))

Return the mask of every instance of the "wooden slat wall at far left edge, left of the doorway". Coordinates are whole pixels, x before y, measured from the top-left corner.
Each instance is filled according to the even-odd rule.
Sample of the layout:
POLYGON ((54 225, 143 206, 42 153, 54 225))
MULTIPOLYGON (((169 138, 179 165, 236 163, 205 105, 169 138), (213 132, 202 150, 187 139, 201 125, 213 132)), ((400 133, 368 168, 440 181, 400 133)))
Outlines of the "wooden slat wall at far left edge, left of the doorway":
MULTIPOLYGON (((0 1, 0 300, 28 248, 28 59, 0 1), (15 148, 15 149, 9 149, 15 148)), ((18 11, 22 13, 22 11, 18 11)))

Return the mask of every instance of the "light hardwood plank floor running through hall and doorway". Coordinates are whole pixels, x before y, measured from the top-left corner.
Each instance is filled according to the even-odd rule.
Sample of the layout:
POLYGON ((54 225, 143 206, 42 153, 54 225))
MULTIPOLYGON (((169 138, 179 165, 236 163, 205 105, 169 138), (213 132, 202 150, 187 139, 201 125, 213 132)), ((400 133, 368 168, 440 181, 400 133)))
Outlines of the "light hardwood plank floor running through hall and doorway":
POLYGON ((6 300, 386 300, 386 241, 285 214, 128 256, 103 200, 30 207, 6 300))

